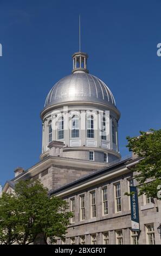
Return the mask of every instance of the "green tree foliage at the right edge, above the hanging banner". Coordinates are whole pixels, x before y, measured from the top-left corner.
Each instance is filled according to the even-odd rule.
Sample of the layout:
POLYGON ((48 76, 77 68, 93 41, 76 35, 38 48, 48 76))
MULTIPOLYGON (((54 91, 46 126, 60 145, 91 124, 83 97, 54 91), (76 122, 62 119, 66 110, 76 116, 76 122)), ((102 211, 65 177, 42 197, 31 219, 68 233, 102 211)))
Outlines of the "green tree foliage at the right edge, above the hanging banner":
POLYGON ((140 157, 140 161, 133 167, 139 195, 145 193, 156 198, 157 187, 161 184, 161 130, 140 131, 140 136, 128 136, 126 139, 126 147, 140 157))

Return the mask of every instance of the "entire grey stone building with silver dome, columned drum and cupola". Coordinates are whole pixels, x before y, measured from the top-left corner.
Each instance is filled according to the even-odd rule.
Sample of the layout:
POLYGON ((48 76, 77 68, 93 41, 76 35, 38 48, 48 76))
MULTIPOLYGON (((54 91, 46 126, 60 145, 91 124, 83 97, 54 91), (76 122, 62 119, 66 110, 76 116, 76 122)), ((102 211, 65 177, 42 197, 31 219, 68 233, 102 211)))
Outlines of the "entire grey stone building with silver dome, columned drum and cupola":
POLYGON ((40 179, 49 196, 69 203, 70 220, 62 244, 160 244, 161 205, 139 197, 140 231, 131 229, 130 198, 136 157, 121 159, 120 112, 111 90, 88 74, 87 54, 73 54, 72 74, 51 88, 41 112, 42 154, 28 170, 18 167, 3 192, 20 180, 40 179))

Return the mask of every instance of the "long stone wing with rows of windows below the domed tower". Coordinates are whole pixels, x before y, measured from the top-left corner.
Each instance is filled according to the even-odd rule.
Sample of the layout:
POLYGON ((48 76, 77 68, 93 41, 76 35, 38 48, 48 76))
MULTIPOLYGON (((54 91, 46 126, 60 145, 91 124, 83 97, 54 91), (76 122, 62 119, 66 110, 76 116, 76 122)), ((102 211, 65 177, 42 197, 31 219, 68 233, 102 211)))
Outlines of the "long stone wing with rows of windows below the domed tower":
POLYGON ((125 192, 130 192, 133 182, 137 185, 128 167, 137 160, 120 160, 50 193, 66 200, 75 216, 70 221, 66 241, 58 239, 57 244, 161 243, 157 230, 161 221, 160 200, 140 196, 140 231, 131 229, 130 197, 125 192))

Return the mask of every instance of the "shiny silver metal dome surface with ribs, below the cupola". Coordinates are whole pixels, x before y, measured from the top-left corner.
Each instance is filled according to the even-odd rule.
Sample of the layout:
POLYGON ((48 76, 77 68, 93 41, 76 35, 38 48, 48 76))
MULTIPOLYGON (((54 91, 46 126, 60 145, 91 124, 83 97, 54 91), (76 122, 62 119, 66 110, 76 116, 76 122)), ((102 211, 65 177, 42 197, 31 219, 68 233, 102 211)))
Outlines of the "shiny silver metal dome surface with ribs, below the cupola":
POLYGON ((106 84, 85 72, 65 76, 55 83, 47 96, 44 107, 67 101, 102 102, 115 106, 114 97, 106 84))

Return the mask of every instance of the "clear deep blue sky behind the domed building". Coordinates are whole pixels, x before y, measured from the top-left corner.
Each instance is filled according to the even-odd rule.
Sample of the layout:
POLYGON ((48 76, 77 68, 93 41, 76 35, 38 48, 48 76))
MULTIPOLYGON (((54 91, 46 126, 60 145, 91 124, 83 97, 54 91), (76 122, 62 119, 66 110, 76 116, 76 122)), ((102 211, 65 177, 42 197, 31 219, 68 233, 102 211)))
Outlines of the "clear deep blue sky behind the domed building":
POLYGON ((88 69, 110 87, 121 112, 120 153, 128 154, 127 135, 161 127, 160 0, 1 0, 2 185, 17 166, 39 161, 40 112, 53 84, 72 70, 79 14, 88 69))

